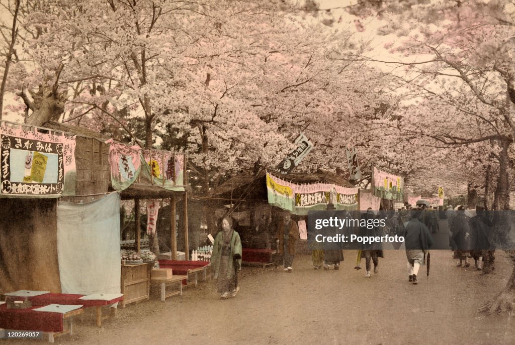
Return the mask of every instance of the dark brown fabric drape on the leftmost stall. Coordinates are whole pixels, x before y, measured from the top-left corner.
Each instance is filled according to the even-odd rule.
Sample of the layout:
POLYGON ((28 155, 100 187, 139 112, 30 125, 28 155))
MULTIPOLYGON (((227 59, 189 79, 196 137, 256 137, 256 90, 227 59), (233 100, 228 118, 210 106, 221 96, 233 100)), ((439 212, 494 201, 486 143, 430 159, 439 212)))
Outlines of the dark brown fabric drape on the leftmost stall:
POLYGON ((0 202, 0 293, 61 292, 55 199, 0 202))

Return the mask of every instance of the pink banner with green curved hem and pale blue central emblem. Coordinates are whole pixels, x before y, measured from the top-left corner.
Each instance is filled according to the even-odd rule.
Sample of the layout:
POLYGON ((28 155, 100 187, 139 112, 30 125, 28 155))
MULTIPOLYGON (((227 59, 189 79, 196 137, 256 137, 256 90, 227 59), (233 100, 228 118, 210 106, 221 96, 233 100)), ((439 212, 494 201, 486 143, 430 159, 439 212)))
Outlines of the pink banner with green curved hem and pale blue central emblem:
POLYGON ((123 191, 134 183, 141 169, 139 146, 126 146, 109 139, 109 163, 111 184, 117 191, 123 191))

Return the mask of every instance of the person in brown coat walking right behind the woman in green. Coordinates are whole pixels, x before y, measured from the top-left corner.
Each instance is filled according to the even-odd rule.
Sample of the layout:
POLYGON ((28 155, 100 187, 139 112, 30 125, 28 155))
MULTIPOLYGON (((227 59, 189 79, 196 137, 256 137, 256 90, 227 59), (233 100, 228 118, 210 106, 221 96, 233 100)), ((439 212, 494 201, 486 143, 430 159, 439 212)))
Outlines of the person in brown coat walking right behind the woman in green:
POLYGON ((277 246, 279 255, 283 257, 284 271, 291 273, 293 259, 295 257, 295 244, 300 238, 297 223, 291 220, 289 212, 284 213, 282 222, 279 223, 276 232, 276 239, 279 241, 277 246))

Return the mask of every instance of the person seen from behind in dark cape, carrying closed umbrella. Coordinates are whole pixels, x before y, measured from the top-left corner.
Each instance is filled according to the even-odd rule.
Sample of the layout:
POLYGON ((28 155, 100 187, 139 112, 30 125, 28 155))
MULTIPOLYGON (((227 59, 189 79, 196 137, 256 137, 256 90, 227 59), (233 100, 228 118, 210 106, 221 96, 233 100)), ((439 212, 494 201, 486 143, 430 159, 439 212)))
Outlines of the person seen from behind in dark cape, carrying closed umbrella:
MULTIPOLYGON (((424 262, 424 255, 429 255, 429 248, 434 244, 433 237, 427 227, 421 222, 422 210, 410 211, 410 219, 405 224, 404 244, 406 246, 406 258, 408 259, 408 280, 418 284, 418 271, 424 262)), ((429 263, 429 261, 428 261, 429 263)), ((427 267, 429 275, 429 267, 427 267)))

